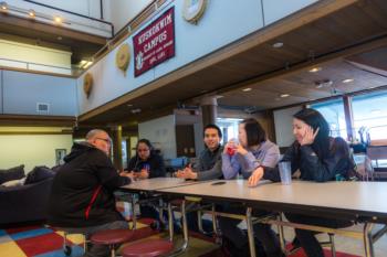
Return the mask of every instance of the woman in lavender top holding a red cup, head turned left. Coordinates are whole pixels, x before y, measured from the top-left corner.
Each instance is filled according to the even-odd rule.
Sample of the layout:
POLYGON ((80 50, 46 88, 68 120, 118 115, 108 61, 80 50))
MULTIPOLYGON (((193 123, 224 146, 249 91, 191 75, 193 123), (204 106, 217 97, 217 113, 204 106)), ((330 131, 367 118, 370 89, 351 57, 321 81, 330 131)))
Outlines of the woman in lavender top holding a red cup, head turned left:
MULTIPOLYGON (((245 119, 239 125, 239 143, 230 140, 222 153, 222 172, 224 179, 236 179, 241 174, 249 180, 250 186, 255 186, 263 175, 264 167, 273 168, 280 159, 279 147, 266 138, 262 126, 255 119, 245 119)), ((222 211, 227 213, 242 214, 245 207, 240 204, 223 204, 222 211)), ((254 216, 265 215, 268 212, 253 210, 254 216)), ((228 244, 231 256, 249 256, 248 238, 244 232, 238 227, 239 219, 219 217, 219 225, 223 233, 223 239, 228 244)), ((283 256, 280 242, 275 233, 268 224, 254 224, 255 250, 258 256, 265 254, 268 257, 283 256), (264 249, 262 249, 263 244, 264 249), (261 253, 260 253, 261 250, 261 253), (262 251, 265 253, 262 253, 262 251)))

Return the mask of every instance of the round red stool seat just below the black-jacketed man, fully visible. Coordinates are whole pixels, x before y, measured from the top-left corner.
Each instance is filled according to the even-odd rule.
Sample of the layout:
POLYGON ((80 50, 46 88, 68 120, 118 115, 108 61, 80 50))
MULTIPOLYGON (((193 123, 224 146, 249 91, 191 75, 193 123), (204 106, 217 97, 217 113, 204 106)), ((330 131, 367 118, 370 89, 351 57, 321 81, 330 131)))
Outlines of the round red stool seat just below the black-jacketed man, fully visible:
POLYGON ((129 229, 101 231, 91 236, 91 242, 98 245, 116 245, 130 240, 135 232, 129 229))

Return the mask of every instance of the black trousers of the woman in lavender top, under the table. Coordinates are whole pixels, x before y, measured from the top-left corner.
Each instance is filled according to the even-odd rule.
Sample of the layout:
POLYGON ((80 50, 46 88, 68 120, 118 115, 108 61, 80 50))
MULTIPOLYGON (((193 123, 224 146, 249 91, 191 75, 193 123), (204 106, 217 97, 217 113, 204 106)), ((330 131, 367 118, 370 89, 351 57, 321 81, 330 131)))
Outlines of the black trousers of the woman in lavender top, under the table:
MULTIPOLYGON (((245 207, 240 204, 223 204, 219 207, 219 211, 233 214, 245 214, 245 207)), ((253 210, 253 216, 262 216, 269 214, 265 211, 253 210)), ((236 247, 243 248, 248 244, 248 237, 245 233, 238 227, 240 219, 229 217, 218 217, 220 229, 224 237, 231 240, 236 247)), ((254 237, 263 245, 263 248, 268 257, 280 257, 282 250, 280 240, 276 234, 271 229, 268 224, 257 223, 253 225, 254 237)))

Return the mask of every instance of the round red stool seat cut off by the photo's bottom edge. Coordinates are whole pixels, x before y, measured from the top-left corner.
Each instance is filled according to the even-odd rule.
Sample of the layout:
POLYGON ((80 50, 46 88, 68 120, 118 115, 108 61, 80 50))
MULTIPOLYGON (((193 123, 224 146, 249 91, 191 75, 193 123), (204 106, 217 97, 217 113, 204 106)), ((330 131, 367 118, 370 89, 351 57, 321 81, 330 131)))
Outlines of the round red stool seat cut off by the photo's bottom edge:
POLYGON ((165 239, 149 239, 125 246, 123 257, 156 257, 172 251, 174 244, 165 239))

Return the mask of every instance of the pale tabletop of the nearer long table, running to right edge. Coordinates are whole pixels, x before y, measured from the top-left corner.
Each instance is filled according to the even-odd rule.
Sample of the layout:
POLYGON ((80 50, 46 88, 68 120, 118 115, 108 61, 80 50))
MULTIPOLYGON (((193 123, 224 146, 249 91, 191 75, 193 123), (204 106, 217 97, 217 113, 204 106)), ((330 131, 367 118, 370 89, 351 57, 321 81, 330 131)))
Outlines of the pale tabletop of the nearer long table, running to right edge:
POLYGON ((293 181, 291 185, 265 182, 257 188, 249 188, 243 180, 230 180, 220 185, 212 185, 212 183, 215 182, 164 189, 157 192, 254 203, 254 206, 262 204, 275 211, 296 207, 314 212, 330 211, 364 217, 376 216, 387 221, 386 182, 293 181))

